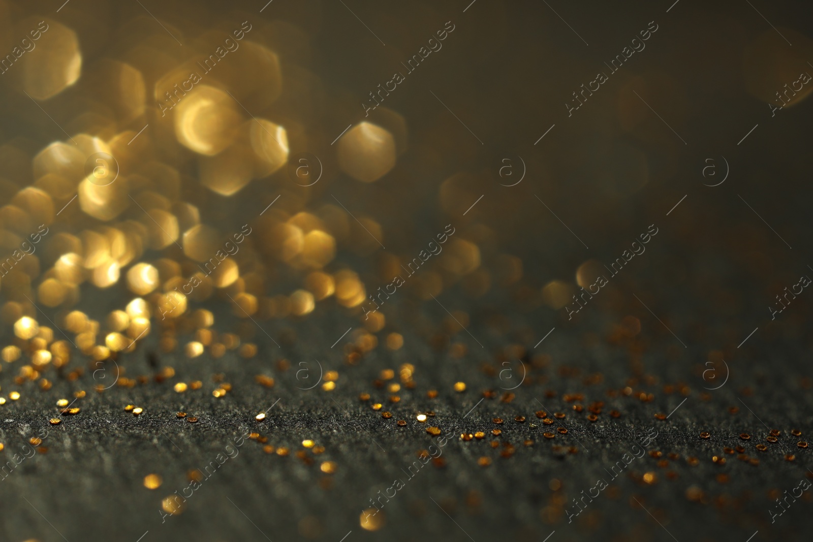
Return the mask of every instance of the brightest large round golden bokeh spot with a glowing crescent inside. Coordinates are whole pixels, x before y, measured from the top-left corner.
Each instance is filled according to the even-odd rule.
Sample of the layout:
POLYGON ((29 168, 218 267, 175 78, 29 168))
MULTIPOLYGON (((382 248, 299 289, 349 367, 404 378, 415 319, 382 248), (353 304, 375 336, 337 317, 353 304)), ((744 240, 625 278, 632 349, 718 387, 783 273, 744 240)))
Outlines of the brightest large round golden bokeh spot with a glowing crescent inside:
POLYGON ((175 106, 178 142, 198 154, 220 153, 232 141, 241 122, 233 98, 209 85, 198 85, 175 106))

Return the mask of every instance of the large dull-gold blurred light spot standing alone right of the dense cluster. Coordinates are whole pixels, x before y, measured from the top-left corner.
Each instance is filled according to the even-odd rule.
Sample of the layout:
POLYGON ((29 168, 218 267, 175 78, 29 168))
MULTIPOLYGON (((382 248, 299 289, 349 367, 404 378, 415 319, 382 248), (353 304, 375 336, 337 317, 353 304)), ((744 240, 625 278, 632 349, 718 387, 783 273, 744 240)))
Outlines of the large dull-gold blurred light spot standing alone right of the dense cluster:
POLYGON ((395 140, 385 128, 361 122, 341 137, 337 154, 341 171, 372 183, 395 167, 395 140))

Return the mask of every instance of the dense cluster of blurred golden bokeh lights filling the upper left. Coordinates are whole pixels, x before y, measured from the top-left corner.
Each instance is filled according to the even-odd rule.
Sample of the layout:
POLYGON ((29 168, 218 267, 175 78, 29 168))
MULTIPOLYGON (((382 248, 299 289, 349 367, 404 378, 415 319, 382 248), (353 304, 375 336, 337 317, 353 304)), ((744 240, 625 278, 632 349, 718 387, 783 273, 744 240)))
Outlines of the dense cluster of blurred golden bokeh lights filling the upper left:
MULTIPOLYGON (((310 171, 289 168, 286 176, 285 166, 291 148, 316 141, 333 153, 337 171, 372 183, 406 151, 402 116, 380 107, 331 147, 309 116, 321 95, 306 87, 318 89, 318 79, 296 63, 285 64, 286 75, 275 52, 307 41, 294 25, 240 13, 189 28, 137 17, 110 37, 114 45, 105 55, 87 21, 78 21, 110 22, 110 12, 88 9, 67 5, 59 22, 0 0, 0 47, 14 57, 2 64, 0 82, 37 119, 38 134, 59 128, 67 136, 44 148, 23 136, 0 145, 0 197, 7 202, 0 208, 7 257, 0 258, 0 320, 15 331, 2 358, 28 356, 17 378, 37 379, 47 366, 63 366, 71 345, 96 362, 133 351, 153 325, 165 351, 177 348, 180 332, 192 334, 182 348, 189 358, 205 351, 220 357, 227 349, 256 353, 245 342, 256 329, 219 334, 214 314, 192 310, 190 302, 216 299, 238 318, 268 319, 303 317, 333 298, 360 315, 369 293, 359 273, 328 267, 341 249, 363 257, 379 250, 382 226, 338 200, 311 202, 315 174, 309 179, 310 171), (20 56, 5 38, 17 34, 30 36, 20 56), (86 44, 93 50, 89 63, 86 44), (247 190, 254 180, 261 186, 247 190), (234 225, 215 228, 222 223, 234 225), (301 288, 268 293, 277 277, 291 273, 301 288), (107 314, 83 312, 77 306, 88 286, 129 295, 107 314), (40 325, 39 310, 53 311, 54 328, 40 325)), ((337 178, 322 173, 323 185, 337 178)), ((474 243, 455 239, 441 257, 442 271, 412 280, 419 297, 475 271, 479 258, 474 243)), ((406 257, 385 253, 381 261, 380 275, 389 281, 406 257)), ((356 355, 376 348, 372 333, 385 327, 384 314, 363 323, 350 337, 356 355)))

